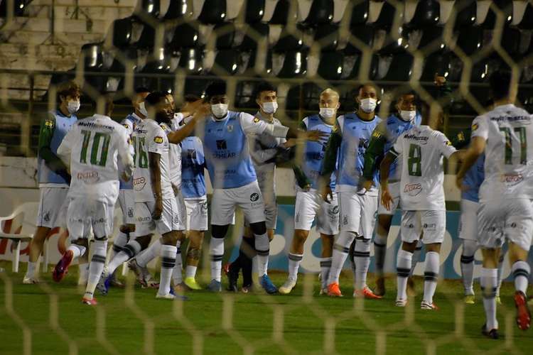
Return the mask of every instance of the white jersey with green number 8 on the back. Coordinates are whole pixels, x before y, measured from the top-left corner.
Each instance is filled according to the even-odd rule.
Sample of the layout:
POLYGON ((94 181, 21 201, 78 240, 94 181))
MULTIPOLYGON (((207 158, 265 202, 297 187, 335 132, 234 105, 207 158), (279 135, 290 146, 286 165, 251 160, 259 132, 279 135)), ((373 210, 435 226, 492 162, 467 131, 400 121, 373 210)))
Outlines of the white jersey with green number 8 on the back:
POLYGON ((402 154, 400 204, 404 211, 443 211, 443 156, 456 152, 446 136, 429 126, 413 127, 402 133, 389 151, 402 154))

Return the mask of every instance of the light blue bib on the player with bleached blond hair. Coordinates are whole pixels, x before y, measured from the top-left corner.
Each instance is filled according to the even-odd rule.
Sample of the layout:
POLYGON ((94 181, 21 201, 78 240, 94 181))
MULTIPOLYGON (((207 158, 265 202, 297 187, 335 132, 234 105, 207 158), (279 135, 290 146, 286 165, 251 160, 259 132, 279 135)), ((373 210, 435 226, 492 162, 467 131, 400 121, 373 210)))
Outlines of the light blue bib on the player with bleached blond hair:
MULTIPOLYGON (((326 124, 320 115, 315 114, 303 119, 303 124, 306 125, 307 131, 322 131, 331 134, 333 126, 326 124)), ((306 178, 311 182, 313 189, 319 188, 319 178, 321 173, 322 161, 325 155, 325 147, 327 141, 307 141, 303 150, 303 164, 301 170, 306 175, 306 178)), ((335 173, 331 174, 330 187, 331 190, 335 189, 335 173)))

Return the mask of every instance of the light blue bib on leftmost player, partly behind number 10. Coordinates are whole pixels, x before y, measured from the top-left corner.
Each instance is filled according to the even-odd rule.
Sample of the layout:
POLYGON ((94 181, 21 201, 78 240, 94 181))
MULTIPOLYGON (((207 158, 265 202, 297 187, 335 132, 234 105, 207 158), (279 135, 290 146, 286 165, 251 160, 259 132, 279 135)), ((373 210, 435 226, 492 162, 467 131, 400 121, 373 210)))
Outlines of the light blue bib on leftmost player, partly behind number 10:
MULTIPOLYGON (((48 118, 45 119, 40 134, 48 134, 48 147, 54 155, 58 155, 58 147, 76 121, 77 116, 75 114, 68 117, 62 114, 60 110, 50 111, 48 113, 48 118), (50 131, 52 131, 51 137, 50 131)), ((64 184, 68 186, 68 182, 50 169, 41 155, 38 156, 38 179, 39 184, 64 184)))

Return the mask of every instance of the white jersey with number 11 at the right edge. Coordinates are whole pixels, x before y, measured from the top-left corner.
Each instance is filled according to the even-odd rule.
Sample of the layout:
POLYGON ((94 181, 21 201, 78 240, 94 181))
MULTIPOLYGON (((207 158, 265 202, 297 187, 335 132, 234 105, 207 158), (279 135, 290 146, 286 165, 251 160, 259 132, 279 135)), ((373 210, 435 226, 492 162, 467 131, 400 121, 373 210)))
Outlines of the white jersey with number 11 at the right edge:
POLYGON ((498 106, 475 118, 472 137, 487 141, 480 200, 532 199, 533 116, 513 104, 498 106))

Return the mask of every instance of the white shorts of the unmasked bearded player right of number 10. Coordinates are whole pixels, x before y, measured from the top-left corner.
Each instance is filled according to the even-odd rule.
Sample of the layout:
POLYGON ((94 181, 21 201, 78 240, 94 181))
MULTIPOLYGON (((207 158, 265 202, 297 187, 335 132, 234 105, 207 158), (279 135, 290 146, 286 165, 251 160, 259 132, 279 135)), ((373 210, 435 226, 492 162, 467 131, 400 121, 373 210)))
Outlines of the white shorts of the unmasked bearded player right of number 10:
POLYGON ((135 202, 135 235, 146 236, 157 229, 163 235, 169 231, 184 231, 183 219, 180 219, 180 212, 176 199, 163 200, 163 212, 161 218, 152 219, 152 213, 156 202, 135 202))

